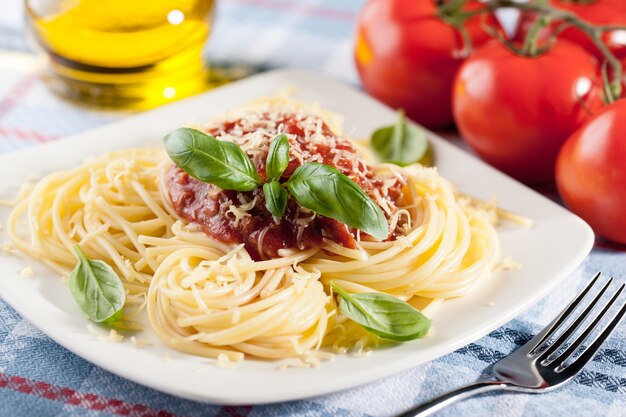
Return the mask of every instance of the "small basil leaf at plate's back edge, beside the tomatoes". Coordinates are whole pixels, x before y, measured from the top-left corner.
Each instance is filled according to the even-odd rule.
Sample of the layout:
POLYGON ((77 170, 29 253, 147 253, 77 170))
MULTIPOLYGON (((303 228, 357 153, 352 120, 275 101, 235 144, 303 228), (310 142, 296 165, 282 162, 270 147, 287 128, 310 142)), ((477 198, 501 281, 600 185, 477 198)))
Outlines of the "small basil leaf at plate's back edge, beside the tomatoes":
POLYGON ((382 162, 406 166, 415 162, 426 162, 428 139, 426 132, 407 122, 403 111, 393 126, 378 129, 372 135, 372 150, 382 162))

